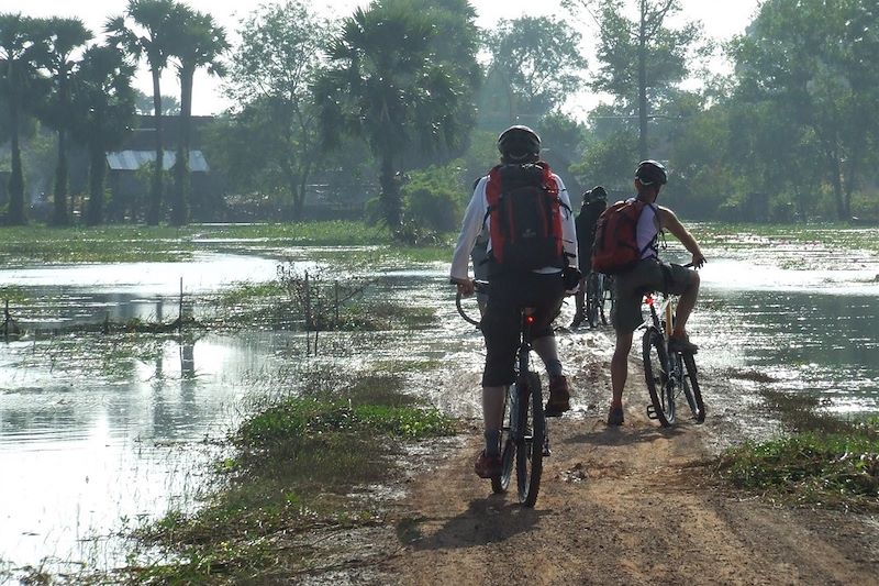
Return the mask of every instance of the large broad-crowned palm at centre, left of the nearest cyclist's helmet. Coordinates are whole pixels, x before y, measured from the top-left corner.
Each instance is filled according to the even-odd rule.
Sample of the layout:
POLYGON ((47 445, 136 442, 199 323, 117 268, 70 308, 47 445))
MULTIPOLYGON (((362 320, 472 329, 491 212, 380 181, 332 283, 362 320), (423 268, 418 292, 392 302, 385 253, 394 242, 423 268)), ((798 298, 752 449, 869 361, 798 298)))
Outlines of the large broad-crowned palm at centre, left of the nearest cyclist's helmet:
POLYGON ((372 3, 343 22, 329 51, 331 68, 315 84, 327 146, 342 133, 367 140, 380 162, 381 204, 398 232, 402 156, 460 140, 463 95, 452 68, 434 58, 435 29, 405 2, 372 3))

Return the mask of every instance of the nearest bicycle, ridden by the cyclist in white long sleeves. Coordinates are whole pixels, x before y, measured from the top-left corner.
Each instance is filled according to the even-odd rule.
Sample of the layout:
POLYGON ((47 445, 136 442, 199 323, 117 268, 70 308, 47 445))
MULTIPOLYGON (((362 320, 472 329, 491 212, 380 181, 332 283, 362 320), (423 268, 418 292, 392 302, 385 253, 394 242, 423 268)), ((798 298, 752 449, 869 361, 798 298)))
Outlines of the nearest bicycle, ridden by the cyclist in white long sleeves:
MULTIPOLYGON (((487 281, 476 281, 476 289, 488 292, 487 281)), ((460 291, 455 297, 458 313, 469 323, 480 328, 480 322, 461 307, 460 291)), ((516 473, 519 501, 534 507, 541 488, 543 458, 549 456, 549 435, 543 410, 541 377, 531 371, 531 308, 523 308, 520 324, 520 344, 516 351, 515 383, 507 389, 503 399, 503 427, 501 428, 501 474, 491 478, 493 493, 505 493, 516 473)))

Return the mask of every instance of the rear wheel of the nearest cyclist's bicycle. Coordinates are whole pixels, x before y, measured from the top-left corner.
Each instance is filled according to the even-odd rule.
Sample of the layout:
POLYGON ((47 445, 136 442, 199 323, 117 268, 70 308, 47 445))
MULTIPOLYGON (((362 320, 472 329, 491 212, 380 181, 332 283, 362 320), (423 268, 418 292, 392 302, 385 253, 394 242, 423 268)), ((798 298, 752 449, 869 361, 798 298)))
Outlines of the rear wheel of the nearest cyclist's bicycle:
POLYGON ((537 501, 543 474, 543 441, 546 434, 546 420, 543 414, 543 394, 541 379, 536 373, 520 377, 519 413, 515 446, 515 475, 519 487, 519 501, 533 507, 537 501))

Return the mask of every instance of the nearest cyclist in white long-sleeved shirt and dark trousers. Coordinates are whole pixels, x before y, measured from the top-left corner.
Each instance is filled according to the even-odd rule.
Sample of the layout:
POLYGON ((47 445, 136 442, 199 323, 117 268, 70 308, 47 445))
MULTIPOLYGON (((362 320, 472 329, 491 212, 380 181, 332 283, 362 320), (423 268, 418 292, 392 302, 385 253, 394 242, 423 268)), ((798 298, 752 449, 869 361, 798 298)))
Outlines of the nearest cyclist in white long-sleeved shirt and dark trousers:
MULTIPOLYGON (((505 388, 515 380, 515 354, 519 347, 521 310, 534 308, 532 325, 532 345, 543 360, 549 375, 549 399, 546 403, 547 416, 559 416, 570 409, 570 391, 553 333, 553 319, 561 307, 566 289, 574 290, 579 281, 577 270, 577 237, 574 217, 570 213, 570 199, 561 179, 539 161, 541 139, 527 126, 511 126, 498 137, 498 151, 501 164, 482 177, 474 189, 472 198, 467 206, 460 235, 452 259, 450 278, 457 284, 461 295, 474 292, 474 281, 468 276, 468 259, 477 236, 483 228, 489 234, 487 251, 489 253, 489 294, 481 329, 486 340, 486 366, 482 373, 482 419, 485 424, 486 447, 479 453, 474 469, 482 478, 491 478, 501 473, 499 438, 503 425, 503 401, 505 388), (505 264, 502 246, 510 246, 501 240, 494 229, 501 223, 497 208, 501 206, 499 192, 507 196, 508 179, 514 183, 516 177, 527 175, 539 176, 538 189, 552 194, 550 220, 560 231, 558 258, 536 268, 516 268, 505 264), (499 185, 499 183, 501 185, 499 185), (491 202, 491 204, 490 204, 491 202), (565 259, 572 265, 566 267, 565 259)), ((521 186, 518 183, 516 186, 521 186)), ((541 191, 541 194, 543 194, 541 191)), ((539 197, 543 197, 541 195, 539 197)), ((507 197, 508 200, 512 198, 507 197)), ((534 214, 532 214, 534 215, 534 214)), ((527 218, 526 218, 527 219, 527 218)), ((534 247, 536 248, 536 246, 534 247)), ((525 250, 524 253, 531 252, 525 250)), ((510 256, 507 257, 509 261, 510 256)))

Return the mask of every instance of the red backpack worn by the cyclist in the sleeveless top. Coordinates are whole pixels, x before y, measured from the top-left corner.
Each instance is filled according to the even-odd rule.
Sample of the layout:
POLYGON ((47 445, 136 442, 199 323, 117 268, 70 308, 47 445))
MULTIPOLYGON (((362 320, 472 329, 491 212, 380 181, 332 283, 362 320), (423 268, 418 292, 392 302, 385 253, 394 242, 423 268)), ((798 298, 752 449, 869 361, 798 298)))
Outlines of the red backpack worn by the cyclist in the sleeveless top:
POLYGON ((592 270, 614 275, 641 261, 644 250, 638 247, 637 228, 646 206, 649 203, 639 199, 617 201, 599 215, 592 244, 592 270))

